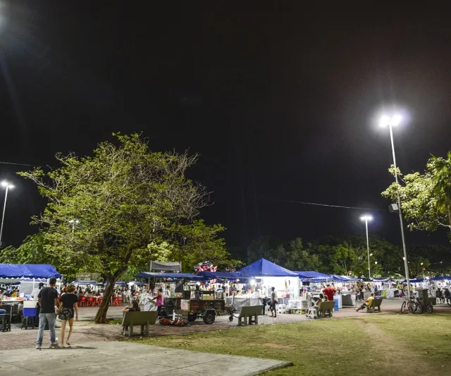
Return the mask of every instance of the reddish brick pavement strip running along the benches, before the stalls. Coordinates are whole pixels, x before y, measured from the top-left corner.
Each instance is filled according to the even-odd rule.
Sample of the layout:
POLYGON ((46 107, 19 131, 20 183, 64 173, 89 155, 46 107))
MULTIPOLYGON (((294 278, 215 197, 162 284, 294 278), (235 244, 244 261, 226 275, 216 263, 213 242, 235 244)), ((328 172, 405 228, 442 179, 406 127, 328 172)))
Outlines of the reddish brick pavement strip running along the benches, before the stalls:
MULTIPOLYGON (((400 310, 402 299, 384 299, 381 309, 382 313, 397 313, 400 310)), ((122 307, 111 307, 109 310, 109 318, 121 317, 122 307)), ((435 311, 450 311, 451 306, 439 305, 434 306, 435 311)), ((80 318, 85 321, 75 322, 71 341, 75 344, 84 343, 87 341, 112 341, 123 339, 121 335, 121 325, 95 325, 94 322, 89 321, 94 318, 97 308, 87 307, 80 308, 80 318)), ((360 317, 362 315, 372 315, 372 313, 365 313, 364 311, 356 312, 353 308, 344 308, 335 312, 333 318, 352 318, 360 317)), ((310 320, 304 314, 297 315, 278 315, 277 318, 270 316, 259 316, 259 325, 275 325, 275 324, 290 324, 294 322, 304 322, 310 320)), ((237 319, 234 318, 232 322, 228 320, 228 316, 221 316, 216 318, 213 325, 206 325, 202 320, 192 322, 187 327, 173 327, 163 325, 152 325, 151 336, 164 336, 171 334, 190 334, 195 332, 211 332, 215 330, 225 330, 237 327, 237 319)), ((59 329, 56 330, 57 337, 59 337, 59 329)), ((0 351, 6 349, 26 349, 34 346, 36 340, 37 330, 20 330, 20 325, 13 327, 11 332, 0 332, 0 351)), ((49 332, 44 332, 44 344, 49 341, 49 332)))

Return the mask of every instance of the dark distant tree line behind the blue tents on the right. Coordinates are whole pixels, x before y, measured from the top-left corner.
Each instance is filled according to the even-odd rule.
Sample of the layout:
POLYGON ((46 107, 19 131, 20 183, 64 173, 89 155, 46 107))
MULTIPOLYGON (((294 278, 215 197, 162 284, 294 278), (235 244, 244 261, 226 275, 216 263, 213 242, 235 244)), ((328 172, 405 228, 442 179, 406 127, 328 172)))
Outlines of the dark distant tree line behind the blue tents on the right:
MULTIPOLYGON (((254 240, 247 249, 232 251, 244 263, 266 258, 289 270, 316 270, 326 274, 368 277, 366 237, 329 237, 304 242, 300 237, 283 241, 275 237, 254 240)), ((404 276, 402 247, 385 239, 369 237, 371 277, 404 276)), ((443 275, 451 272, 451 249, 446 246, 409 246, 412 277, 443 275)))

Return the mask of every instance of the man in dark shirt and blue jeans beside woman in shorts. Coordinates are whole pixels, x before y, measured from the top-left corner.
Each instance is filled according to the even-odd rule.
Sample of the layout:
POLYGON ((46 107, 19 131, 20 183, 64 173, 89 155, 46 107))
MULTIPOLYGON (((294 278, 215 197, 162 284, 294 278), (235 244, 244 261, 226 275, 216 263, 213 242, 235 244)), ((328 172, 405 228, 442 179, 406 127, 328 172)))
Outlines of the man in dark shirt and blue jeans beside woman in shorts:
POLYGON ((56 278, 51 277, 49 280, 50 287, 44 287, 39 291, 37 301, 41 306, 41 312, 39 313, 39 330, 37 331, 36 349, 40 350, 42 346, 42 337, 44 337, 44 327, 46 323, 49 323, 50 329, 50 345, 54 346, 56 342, 55 332, 55 306, 58 306, 58 292, 55 289, 56 278))

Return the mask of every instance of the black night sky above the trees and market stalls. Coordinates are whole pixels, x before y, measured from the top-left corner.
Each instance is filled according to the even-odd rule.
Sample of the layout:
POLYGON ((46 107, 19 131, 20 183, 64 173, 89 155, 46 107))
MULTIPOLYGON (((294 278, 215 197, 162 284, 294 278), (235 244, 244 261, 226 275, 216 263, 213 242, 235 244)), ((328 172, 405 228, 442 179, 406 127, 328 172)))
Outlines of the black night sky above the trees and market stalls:
MULTIPOLYGON (((273 199, 387 208, 383 108, 405 116, 404 172, 450 149, 449 13, 302 3, 1 1, 0 161, 54 165, 56 152, 83 156, 111 132, 143 132, 154 150, 201 154, 190 176, 213 191, 203 216, 228 228, 230 246, 364 233, 362 211, 273 199)), ((0 165, 17 186, 6 244, 35 231, 30 216, 44 207, 15 176, 25 168, 0 165)), ((397 215, 373 215, 370 232, 400 242, 397 215)))

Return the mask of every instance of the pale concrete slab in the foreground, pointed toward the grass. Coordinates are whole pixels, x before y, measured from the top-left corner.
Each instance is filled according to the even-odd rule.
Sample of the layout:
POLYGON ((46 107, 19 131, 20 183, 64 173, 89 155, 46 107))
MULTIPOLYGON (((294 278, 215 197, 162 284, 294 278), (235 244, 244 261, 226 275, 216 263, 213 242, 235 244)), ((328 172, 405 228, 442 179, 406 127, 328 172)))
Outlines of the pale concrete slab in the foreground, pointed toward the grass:
POLYGON ((88 342, 68 349, 0 352, 0 375, 259 375, 291 365, 270 359, 165 349, 132 342, 88 342))

